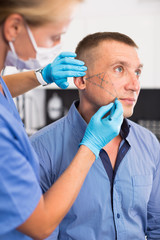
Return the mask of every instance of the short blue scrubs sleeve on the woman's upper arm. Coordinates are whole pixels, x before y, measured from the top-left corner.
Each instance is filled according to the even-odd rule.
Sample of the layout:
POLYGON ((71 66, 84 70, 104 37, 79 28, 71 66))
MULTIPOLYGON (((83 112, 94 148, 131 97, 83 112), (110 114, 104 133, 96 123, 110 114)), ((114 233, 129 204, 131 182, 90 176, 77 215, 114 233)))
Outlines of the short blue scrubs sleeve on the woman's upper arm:
MULTIPOLYGON (((20 131, 20 129, 18 129, 20 131)), ((0 121, 0 235, 32 214, 42 191, 24 149, 11 127, 0 121)))

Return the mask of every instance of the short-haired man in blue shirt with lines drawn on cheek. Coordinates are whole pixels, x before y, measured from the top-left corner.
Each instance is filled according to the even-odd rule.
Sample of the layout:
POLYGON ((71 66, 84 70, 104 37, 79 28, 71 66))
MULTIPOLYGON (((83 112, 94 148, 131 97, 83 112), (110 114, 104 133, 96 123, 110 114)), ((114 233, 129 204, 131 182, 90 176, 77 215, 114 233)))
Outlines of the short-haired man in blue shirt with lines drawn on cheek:
POLYGON ((127 120, 140 91, 142 64, 137 50, 124 34, 85 37, 76 49, 77 58, 88 67, 85 77, 74 79, 80 100, 67 116, 31 138, 46 192, 75 156, 92 115, 115 98, 123 105, 119 135, 101 150, 75 203, 49 239, 160 239, 159 142, 150 131, 127 120))

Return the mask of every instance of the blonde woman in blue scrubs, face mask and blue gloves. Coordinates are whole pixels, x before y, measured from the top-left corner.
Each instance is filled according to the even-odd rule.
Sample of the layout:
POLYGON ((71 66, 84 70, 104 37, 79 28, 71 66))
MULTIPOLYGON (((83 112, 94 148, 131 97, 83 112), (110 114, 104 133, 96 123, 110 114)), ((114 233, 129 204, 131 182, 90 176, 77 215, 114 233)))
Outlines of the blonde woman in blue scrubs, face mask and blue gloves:
MULTIPOLYGON (((0 70, 39 67, 38 56, 55 45, 79 0, 0 0, 0 70)), ((118 101, 98 110, 68 169, 42 195, 38 160, 12 96, 42 84, 68 86, 68 76, 84 76, 84 63, 62 53, 38 72, 0 77, 0 239, 44 239, 70 209, 100 149, 118 133, 123 119, 118 101), (39 80, 37 80, 39 79, 39 80), (12 80, 12 81, 11 81, 12 80), (10 91, 9 91, 10 90, 10 91), (113 116, 103 118, 113 107, 113 116)), ((58 141, 58 139, 57 139, 58 141)))

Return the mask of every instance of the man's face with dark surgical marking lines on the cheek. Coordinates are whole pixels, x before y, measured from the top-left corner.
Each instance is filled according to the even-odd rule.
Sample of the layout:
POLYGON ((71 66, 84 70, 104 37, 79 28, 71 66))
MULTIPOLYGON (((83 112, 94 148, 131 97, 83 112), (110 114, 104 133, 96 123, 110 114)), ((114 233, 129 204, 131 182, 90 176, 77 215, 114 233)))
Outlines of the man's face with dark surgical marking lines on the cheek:
POLYGON ((142 64, 136 48, 118 41, 103 41, 91 53, 83 96, 93 109, 113 102, 122 103, 124 117, 130 117, 136 104, 142 64))

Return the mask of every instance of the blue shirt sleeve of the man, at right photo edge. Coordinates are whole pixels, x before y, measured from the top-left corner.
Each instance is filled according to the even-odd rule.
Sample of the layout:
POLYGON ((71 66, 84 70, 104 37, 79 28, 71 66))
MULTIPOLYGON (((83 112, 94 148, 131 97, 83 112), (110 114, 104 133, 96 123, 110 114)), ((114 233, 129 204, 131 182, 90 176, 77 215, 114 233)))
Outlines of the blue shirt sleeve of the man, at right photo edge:
POLYGON ((160 147, 157 167, 153 179, 152 192, 148 203, 147 239, 160 239, 160 147))

